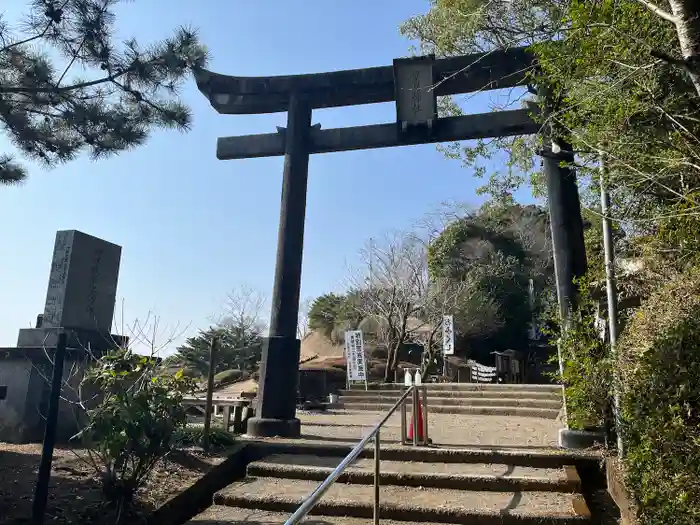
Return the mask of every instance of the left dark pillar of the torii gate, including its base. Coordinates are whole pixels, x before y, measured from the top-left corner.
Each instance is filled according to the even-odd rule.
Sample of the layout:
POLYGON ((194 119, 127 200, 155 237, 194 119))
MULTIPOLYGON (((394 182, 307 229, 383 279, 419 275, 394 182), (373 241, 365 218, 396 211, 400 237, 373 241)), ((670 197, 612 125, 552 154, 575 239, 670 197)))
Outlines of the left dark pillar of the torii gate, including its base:
POLYGON ((300 422, 295 417, 300 351, 297 324, 310 129, 311 106, 303 96, 293 93, 284 131, 282 205, 270 336, 263 347, 260 364, 257 412, 248 420, 248 434, 253 436, 295 437, 301 432, 300 422))

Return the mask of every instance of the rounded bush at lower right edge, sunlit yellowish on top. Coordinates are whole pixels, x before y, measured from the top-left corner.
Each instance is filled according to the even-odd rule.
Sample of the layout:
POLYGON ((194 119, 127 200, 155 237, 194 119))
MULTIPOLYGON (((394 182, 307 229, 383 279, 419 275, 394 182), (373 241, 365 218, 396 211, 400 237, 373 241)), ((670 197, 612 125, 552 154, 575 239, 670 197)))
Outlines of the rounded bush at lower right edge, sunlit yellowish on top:
POLYGON ((644 303, 619 361, 624 466, 640 522, 700 523, 700 271, 644 303))

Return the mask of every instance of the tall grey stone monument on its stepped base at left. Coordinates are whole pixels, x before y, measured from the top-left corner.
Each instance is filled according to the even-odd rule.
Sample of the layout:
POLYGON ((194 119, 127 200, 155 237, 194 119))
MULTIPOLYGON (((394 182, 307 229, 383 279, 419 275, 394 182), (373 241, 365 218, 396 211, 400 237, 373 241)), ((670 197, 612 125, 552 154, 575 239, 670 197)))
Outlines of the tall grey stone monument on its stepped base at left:
POLYGON ((0 348, 0 440, 39 441, 51 377, 51 354, 59 331, 67 335, 64 391, 58 437, 67 439, 82 424, 78 385, 86 366, 126 343, 111 334, 121 247, 77 230, 56 233, 44 313, 35 328, 19 331, 17 347, 0 348))

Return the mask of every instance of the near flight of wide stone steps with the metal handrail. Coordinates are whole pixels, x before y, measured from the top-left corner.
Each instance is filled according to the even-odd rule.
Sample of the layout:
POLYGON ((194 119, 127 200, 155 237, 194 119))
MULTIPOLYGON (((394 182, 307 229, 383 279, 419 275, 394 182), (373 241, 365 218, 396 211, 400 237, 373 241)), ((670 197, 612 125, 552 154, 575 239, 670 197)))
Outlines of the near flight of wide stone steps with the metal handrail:
MULTIPOLYGON (((246 477, 216 492, 214 504, 188 523, 282 524, 350 451, 337 445, 270 445, 251 458, 246 477)), ((561 451, 382 445, 381 457, 382 523, 592 523, 573 466, 581 458, 561 451)), ((304 522, 371 525, 373 490, 369 447, 304 522)))

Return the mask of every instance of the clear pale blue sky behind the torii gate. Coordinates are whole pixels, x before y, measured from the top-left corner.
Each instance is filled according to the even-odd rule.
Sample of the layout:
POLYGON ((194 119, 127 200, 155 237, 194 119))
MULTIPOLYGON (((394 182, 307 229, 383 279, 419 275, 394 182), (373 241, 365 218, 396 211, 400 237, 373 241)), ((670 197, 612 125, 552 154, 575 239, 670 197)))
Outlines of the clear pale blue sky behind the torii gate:
MULTIPOLYGON (((2 9, 12 20, 24 5, 5 0, 2 9)), ((400 23, 427 8, 427 0, 139 0, 117 14, 120 37, 146 43, 191 25, 211 51, 210 69, 279 75, 389 65, 409 54, 400 23)), ((193 81, 182 97, 194 113, 191 132, 158 131, 144 147, 99 162, 34 166, 25 185, 0 189, 0 346, 14 345, 43 311, 62 229, 123 247, 117 321, 154 312, 161 339, 176 326, 189 326, 183 335, 206 326, 240 285, 271 295, 282 158, 218 161, 215 144, 272 132, 285 115, 219 115, 193 81)), ((475 98, 468 109, 488 107, 475 98)), ((394 117, 393 104, 314 112, 324 128, 394 117)), ((8 149, 0 135, 0 151, 8 149)), ((309 170, 302 297, 341 289, 368 238, 409 227, 441 202, 481 202, 479 181, 433 145, 317 155, 309 170)))

